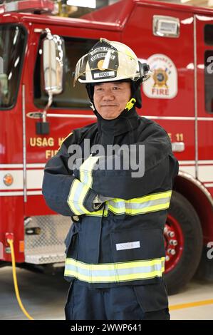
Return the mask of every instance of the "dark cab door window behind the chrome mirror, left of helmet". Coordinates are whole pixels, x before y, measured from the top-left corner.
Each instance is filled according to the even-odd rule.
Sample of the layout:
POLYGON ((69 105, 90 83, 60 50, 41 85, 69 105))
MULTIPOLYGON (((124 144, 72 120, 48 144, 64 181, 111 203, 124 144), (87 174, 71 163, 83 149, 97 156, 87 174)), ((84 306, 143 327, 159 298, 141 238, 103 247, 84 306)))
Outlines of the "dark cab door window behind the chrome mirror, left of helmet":
MULTIPOLYGON (((90 102, 85 90, 85 85, 77 83, 73 87, 72 73, 78 59, 92 48, 96 40, 85 38, 71 38, 62 36, 65 42, 64 82, 63 92, 53 96, 51 108, 90 108, 90 102)), ((41 41, 40 41, 41 42, 41 41)), ((48 102, 47 94, 41 89, 41 56, 38 46, 36 67, 34 71, 34 103, 38 108, 44 108, 48 102)))

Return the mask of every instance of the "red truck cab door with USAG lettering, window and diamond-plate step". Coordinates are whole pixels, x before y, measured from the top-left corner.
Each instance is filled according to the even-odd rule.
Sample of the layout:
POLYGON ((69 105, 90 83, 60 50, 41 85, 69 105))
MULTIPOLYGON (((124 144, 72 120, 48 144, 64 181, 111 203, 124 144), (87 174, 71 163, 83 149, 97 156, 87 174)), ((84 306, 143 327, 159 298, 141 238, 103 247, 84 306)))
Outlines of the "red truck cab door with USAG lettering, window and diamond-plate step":
POLYGON ((71 19, 57 19, 46 23, 34 23, 29 36, 27 55, 28 70, 25 73, 25 130, 26 130, 26 262, 43 264, 64 260, 64 239, 71 225, 70 217, 56 215, 46 205, 41 194, 43 168, 57 153, 62 141, 75 128, 95 122, 96 118, 83 84, 73 88, 72 73, 78 59, 87 53, 100 36, 118 40, 114 31, 90 29, 89 24, 72 26, 71 19), (51 108, 47 110, 49 133, 36 132, 36 123, 41 122, 48 96, 41 87, 41 33, 50 29, 52 34, 63 37, 65 45, 63 92, 53 96, 51 108), (101 33, 101 35, 100 35, 101 33))

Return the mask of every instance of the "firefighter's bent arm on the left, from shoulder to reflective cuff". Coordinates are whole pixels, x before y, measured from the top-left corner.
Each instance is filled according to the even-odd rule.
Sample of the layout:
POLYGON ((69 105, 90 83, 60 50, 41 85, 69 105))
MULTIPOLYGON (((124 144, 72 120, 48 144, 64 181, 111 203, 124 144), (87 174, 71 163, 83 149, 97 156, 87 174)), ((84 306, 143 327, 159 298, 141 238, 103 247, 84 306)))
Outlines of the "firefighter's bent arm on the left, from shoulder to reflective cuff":
MULTIPOLYGON (((68 168, 68 145, 76 141, 72 133, 63 141, 58 153, 48 160, 44 170, 42 192, 48 207, 61 215, 84 215, 94 211, 97 193, 80 182, 68 168)), ((97 206, 98 209, 98 206, 97 206)))

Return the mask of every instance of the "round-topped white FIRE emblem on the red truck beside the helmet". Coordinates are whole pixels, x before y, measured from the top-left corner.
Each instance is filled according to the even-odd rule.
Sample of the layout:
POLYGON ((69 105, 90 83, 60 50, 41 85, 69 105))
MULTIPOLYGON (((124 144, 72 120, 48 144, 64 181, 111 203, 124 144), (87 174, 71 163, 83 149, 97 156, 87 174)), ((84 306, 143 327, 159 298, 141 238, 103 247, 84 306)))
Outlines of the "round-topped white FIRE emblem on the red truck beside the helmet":
POLYGON ((142 88, 149 98, 172 99, 177 95, 177 68, 166 55, 157 53, 147 59, 152 76, 142 88))

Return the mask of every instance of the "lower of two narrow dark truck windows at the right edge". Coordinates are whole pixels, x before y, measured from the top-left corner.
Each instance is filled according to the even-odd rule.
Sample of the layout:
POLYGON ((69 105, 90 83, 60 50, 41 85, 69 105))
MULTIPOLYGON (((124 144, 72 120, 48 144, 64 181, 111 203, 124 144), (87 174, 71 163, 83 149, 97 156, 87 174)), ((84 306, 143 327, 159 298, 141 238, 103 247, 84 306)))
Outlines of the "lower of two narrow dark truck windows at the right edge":
POLYGON ((205 109, 213 113, 213 50, 204 53, 205 109))

